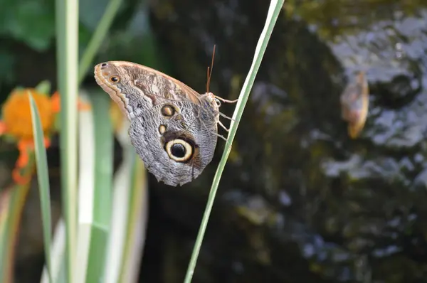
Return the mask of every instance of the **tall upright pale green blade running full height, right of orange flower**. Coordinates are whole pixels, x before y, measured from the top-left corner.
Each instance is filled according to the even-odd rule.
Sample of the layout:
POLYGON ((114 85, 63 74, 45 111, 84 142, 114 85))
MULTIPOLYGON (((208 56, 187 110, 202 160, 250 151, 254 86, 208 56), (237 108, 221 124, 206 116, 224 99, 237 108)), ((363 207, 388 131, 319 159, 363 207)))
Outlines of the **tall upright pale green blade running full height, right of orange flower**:
POLYGON ((56 0, 56 48, 60 93, 61 196, 65 219, 65 274, 72 283, 77 250, 78 0, 56 0))

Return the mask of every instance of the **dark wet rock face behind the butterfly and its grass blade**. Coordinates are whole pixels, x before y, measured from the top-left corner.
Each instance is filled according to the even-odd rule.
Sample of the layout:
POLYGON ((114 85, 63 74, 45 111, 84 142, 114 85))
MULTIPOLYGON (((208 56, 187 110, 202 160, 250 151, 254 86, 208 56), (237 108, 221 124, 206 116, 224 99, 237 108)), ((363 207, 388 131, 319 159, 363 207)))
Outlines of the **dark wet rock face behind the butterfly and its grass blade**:
MULTIPOLYGON (((410 13, 393 1, 317 3, 287 4, 289 13, 278 19, 193 282, 423 282, 426 276, 426 7, 411 6, 410 13), (339 94, 362 69, 371 102, 362 137, 352 141, 339 94)), ((235 99, 267 9, 260 0, 164 0, 153 4, 152 23, 176 78, 199 92, 216 44, 211 89, 235 99)), ((223 111, 231 114, 231 107, 223 111)), ((184 277, 222 147, 194 183, 156 191, 164 217, 181 231, 173 237, 178 250, 165 255, 181 263, 165 282, 184 277)))

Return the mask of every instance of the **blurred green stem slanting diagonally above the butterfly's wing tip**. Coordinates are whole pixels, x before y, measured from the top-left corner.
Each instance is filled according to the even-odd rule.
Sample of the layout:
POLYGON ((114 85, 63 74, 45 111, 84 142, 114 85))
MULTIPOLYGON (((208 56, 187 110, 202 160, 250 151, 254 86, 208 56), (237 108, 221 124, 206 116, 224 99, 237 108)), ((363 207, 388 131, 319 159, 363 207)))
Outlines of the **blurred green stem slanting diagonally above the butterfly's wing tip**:
POLYGON ((95 57, 97 50, 99 50, 102 41, 104 41, 105 35, 110 29, 111 23, 114 20, 121 4, 122 0, 111 0, 108 3, 107 8, 105 9, 105 13, 102 15, 102 18, 98 23, 92 38, 90 38, 88 47, 85 49, 85 53, 80 60, 78 68, 79 85, 85 78, 86 73, 88 73, 88 69, 93 62, 93 58, 95 57))

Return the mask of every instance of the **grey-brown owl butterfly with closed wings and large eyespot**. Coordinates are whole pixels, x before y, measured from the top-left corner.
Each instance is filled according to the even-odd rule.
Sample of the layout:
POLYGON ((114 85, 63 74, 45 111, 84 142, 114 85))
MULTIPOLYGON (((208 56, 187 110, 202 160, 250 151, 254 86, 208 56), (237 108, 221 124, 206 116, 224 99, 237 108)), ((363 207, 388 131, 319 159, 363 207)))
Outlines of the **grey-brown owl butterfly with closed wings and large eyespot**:
POLYGON ((158 181, 177 186, 197 178, 214 156, 219 105, 179 80, 143 65, 110 61, 95 79, 130 120, 132 145, 158 181))

